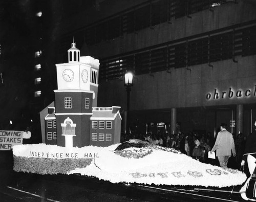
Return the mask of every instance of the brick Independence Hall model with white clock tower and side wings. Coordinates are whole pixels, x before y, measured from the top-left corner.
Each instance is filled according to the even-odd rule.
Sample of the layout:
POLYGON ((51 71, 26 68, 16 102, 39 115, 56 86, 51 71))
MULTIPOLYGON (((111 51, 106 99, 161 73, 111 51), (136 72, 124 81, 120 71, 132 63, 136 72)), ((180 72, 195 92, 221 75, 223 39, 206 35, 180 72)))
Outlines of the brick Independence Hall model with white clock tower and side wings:
POLYGON ((99 60, 80 56, 74 42, 68 58, 68 63, 56 64, 55 107, 48 107, 42 140, 63 147, 120 143, 120 107, 96 107, 99 60))

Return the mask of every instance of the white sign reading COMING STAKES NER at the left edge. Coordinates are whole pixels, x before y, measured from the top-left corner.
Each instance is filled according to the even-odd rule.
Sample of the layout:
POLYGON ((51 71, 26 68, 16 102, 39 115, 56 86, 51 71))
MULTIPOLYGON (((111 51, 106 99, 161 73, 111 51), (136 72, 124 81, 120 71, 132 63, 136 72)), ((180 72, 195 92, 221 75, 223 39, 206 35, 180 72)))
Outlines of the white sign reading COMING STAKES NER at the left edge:
POLYGON ((22 144, 23 131, 0 130, 0 150, 11 150, 12 146, 22 144))

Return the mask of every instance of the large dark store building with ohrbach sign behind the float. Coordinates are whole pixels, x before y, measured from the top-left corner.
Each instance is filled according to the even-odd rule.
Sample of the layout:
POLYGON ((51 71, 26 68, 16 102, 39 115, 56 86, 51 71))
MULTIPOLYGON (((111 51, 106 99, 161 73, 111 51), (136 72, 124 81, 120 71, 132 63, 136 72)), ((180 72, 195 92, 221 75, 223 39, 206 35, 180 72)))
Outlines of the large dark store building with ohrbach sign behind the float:
POLYGON ((230 132, 249 134, 256 121, 255 9, 256 1, 96 1, 62 19, 56 57, 73 36, 83 44, 81 52, 90 52, 83 55, 100 61, 97 105, 121 106, 122 117, 123 78, 132 71, 132 132, 213 136, 226 122, 230 132))

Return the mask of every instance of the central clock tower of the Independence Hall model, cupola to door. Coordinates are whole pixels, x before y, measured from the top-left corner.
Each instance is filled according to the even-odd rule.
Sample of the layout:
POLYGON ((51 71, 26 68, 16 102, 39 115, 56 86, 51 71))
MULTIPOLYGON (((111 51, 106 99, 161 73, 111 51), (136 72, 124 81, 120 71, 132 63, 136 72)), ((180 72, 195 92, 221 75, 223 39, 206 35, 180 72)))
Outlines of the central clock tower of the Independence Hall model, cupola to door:
POLYGON ((99 60, 80 56, 73 42, 69 61, 56 64, 55 93, 57 145, 83 147, 90 143, 92 107, 97 106, 99 60))

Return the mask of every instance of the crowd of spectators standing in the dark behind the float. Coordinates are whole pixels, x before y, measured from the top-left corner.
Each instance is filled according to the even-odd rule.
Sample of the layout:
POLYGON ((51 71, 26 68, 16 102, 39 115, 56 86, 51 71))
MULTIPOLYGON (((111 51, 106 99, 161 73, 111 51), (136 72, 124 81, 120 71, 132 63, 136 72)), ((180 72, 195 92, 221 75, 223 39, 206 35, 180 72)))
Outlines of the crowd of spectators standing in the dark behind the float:
MULTIPOLYGON (((237 156, 232 159, 231 163, 234 164, 232 167, 237 168, 242 161, 246 136, 240 133, 237 137, 233 135, 233 138, 237 156)), ((187 133, 168 134, 159 131, 157 134, 149 132, 145 136, 142 133, 129 133, 124 136, 123 141, 129 141, 130 139, 139 139, 162 147, 174 148, 200 162, 210 163, 212 165, 218 164, 218 161, 208 158, 208 152, 215 143, 215 138, 210 132, 199 134, 196 131, 189 131, 187 133)))

